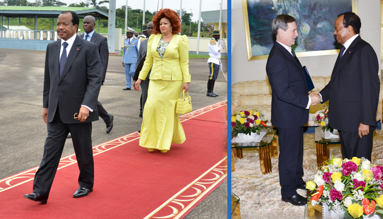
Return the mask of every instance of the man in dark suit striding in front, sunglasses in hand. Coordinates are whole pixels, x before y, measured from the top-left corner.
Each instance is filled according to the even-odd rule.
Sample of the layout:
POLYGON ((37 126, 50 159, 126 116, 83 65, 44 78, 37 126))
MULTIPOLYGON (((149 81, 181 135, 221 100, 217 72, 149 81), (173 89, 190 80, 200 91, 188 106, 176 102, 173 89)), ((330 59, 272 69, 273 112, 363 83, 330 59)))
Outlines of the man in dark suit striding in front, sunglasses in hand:
POLYGON ((48 136, 34 177, 33 193, 24 196, 44 204, 69 132, 80 169, 80 187, 73 197, 84 197, 93 191, 92 121, 98 120, 101 65, 96 44, 77 36, 79 21, 75 12, 61 12, 56 29, 61 40, 50 43, 45 56, 42 117, 48 136))

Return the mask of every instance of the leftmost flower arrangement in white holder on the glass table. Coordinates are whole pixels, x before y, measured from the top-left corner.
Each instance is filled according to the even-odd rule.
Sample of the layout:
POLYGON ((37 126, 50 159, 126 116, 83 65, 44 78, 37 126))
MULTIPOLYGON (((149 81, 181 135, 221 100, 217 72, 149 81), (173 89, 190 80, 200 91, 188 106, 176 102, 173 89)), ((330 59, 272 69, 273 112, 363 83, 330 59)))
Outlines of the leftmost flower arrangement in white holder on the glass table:
POLYGON ((262 111, 249 110, 231 115, 232 142, 258 142, 266 134, 267 117, 262 111), (264 132, 261 132, 264 131, 264 132))

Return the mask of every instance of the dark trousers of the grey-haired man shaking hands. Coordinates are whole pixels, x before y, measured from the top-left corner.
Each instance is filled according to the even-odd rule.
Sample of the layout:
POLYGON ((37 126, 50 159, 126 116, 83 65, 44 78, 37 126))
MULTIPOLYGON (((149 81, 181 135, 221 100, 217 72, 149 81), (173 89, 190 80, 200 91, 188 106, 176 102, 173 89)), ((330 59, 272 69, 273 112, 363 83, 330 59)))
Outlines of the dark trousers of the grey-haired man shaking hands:
POLYGON ((295 187, 303 183, 303 127, 277 129, 281 194, 289 198, 297 194, 295 187))

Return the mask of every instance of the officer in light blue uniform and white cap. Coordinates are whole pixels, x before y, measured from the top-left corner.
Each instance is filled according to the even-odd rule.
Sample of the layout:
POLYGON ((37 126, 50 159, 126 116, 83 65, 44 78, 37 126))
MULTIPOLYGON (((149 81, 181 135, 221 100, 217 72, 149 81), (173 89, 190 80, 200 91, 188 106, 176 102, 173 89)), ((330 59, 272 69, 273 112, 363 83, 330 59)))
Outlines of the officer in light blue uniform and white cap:
POLYGON ((134 30, 130 27, 126 30, 126 39, 124 40, 124 50, 122 55, 122 66, 125 68, 126 87, 122 90, 130 90, 131 81, 136 69, 138 54, 138 39, 133 36, 134 30))

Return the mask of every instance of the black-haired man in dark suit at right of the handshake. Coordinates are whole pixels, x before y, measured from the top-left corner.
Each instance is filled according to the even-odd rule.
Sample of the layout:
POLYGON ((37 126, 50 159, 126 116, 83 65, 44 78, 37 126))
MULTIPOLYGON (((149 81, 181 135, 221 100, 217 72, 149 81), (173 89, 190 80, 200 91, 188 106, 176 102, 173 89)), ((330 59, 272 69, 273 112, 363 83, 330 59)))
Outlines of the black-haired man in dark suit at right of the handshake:
POLYGON ((361 20, 353 12, 338 15, 334 35, 342 49, 331 80, 319 92, 328 102, 328 121, 339 131, 343 158, 371 161, 379 99, 379 64, 373 47, 359 36, 361 20))

